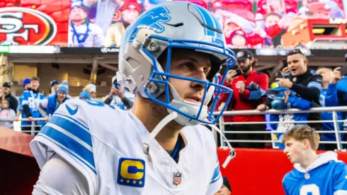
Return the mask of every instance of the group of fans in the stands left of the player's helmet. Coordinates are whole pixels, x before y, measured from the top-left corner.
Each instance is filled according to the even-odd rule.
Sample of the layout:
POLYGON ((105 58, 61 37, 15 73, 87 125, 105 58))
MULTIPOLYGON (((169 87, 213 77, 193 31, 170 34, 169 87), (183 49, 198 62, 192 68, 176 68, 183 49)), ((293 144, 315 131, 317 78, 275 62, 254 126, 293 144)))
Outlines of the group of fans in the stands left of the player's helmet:
MULTIPOLYGON (((59 83, 57 80, 50 82, 50 94, 40 92, 40 78, 32 77, 23 80, 23 93, 17 99, 11 94, 11 83, 5 82, 0 89, 0 126, 13 128, 13 121, 20 121, 21 130, 25 133, 31 131, 32 126, 38 132, 49 121, 50 116, 60 104, 73 97, 69 95, 67 81, 59 83)), ((96 98, 96 85, 87 84, 77 99, 94 100, 96 98)), ((104 103, 118 106, 120 109, 129 110, 135 95, 116 83, 111 87, 110 94, 105 97, 104 103)), ((37 133, 36 133, 37 134, 37 133)))

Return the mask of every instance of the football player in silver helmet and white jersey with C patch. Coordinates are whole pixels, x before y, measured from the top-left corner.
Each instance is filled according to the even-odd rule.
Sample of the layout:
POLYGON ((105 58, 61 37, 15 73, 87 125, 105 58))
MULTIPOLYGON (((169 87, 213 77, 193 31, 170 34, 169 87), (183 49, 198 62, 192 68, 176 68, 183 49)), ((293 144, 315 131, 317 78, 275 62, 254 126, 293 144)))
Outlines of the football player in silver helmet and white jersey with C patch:
POLYGON ((119 53, 117 81, 137 93, 131 111, 79 99, 59 106, 30 143, 42 169, 33 194, 215 194, 215 140, 200 124, 220 118, 220 94, 228 105, 232 90, 215 74, 225 64, 224 83, 234 62, 203 7, 171 1, 145 11, 119 53))

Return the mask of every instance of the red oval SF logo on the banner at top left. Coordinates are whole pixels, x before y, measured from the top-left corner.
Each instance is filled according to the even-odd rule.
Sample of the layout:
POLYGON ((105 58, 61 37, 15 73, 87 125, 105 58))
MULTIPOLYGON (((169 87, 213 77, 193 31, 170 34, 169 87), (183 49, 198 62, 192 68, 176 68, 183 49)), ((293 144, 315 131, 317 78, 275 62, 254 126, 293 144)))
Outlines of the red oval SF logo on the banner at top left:
POLYGON ((0 45, 47 45, 57 34, 47 14, 24 7, 0 9, 0 45))

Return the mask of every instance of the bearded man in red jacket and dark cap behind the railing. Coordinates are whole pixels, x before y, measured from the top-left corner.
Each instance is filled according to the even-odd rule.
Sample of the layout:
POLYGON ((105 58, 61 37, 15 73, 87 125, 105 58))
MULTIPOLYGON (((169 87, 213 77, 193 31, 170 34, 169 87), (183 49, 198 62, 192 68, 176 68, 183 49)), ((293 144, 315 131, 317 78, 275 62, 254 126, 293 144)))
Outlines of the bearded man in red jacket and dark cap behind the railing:
MULTIPOLYGON (((232 100, 229 106, 234 111, 254 110, 259 104, 266 100, 265 91, 268 89, 268 75, 256 72, 256 59, 249 50, 241 50, 237 52, 237 62, 242 74, 237 75, 237 70, 229 70, 225 86, 231 88, 233 92, 232 100)), ((227 96, 220 96, 221 110, 227 96)), ((263 122, 264 115, 242 115, 233 116, 234 122, 263 122)), ((265 124, 236 124, 233 127, 236 130, 254 131, 266 130, 265 124)), ((265 140, 266 134, 254 133, 227 133, 228 140, 265 140)), ((234 143, 234 147, 254 147, 263 148, 263 143, 234 143)))

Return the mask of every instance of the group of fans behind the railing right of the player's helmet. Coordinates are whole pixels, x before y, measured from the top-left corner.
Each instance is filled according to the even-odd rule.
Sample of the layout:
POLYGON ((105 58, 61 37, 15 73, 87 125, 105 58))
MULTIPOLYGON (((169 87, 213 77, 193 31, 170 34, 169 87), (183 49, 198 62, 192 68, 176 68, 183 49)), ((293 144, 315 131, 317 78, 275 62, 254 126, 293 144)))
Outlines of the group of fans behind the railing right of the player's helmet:
MULTIPOLYGON (((283 110, 298 108, 307 110, 315 107, 346 106, 347 101, 347 77, 341 76, 340 68, 319 67, 309 69, 307 57, 300 49, 288 53, 287 65, 275 75, 275 81, 269 83, 268 75, 256 72, 254 55, 249 50, 237 52, 237 69, 227 73, 225 86, 233 89, 232 101, 229 102, 229 111, 254 110, 265 111, 269 108, 283 110)), ((220 97, 220 111, 225 104, 225 97, 220 97)), ((346 119, 346 113, 337 112, 338 120, 346 119)), ((307 123, 307 121, 331 121, 332 112, 323 113, 294 113, 294 114, 269 114, 269 115, 234 115, 224 116, 225 122, 239 122, 234 125, 226 125, 226 131, 266 131, 278 130, 285 133, 295 124, 309 125, 315 130, 334 131, 334 123, 307 123), (242 124, 246 122, 279 121, 290 123, 242 124), (302 122, 300 122, 302 121, 302 122), (241 123, 241 124, 240 124, 241 123)), ((343 123, 339 123, 339 129, 343 130, 343 123)), ((274 135, 274 140, 281 140, 283 133, 274 135)), ((268 140, 266 133, 226 133, 228 140, 268 140)), ((323 141, 336 141, 334 133, 321 135, 323 141)), ((341 133, 341 140, 345 136, 341 133)), ((266 147, 263 143, 233 143, 234 147, 266 147)), ((280 149, 283 144, 277 145, 280 149)), ((336 144, 319 145, 321 150, 334 150, 336 144)))

